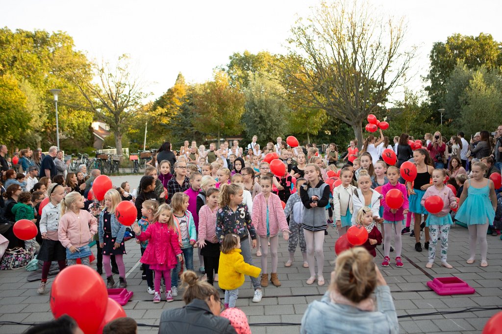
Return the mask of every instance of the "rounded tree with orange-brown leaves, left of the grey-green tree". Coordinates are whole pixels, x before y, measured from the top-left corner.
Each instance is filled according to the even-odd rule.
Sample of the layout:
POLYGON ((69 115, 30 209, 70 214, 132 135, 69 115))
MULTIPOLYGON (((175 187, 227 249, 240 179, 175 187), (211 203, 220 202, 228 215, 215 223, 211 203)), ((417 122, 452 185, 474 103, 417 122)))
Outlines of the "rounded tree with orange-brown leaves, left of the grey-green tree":
POLYGON ((240 133, 240 117, 244 112, 244 96, 238 87, 230 86, 228 75, 214 73, 214 80, 196 87, 193 103, 195 130, 205 134, 229 136, 240 133))

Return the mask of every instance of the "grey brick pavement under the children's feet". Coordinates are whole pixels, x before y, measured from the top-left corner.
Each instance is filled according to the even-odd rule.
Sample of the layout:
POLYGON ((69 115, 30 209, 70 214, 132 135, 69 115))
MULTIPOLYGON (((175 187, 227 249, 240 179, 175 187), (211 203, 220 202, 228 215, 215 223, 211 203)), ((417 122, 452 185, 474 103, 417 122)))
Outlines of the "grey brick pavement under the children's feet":
MULTIPOLYGON (((329 278, 334 259, 333 245, 336 232, 329 228, 329 235, 325 239, 325 277, 329 278)), ((469 311, 464 313, 437 314, 417 316, 418 313, 435 311, 455 311, 468 307, 499 307, 502 305, 502 240, 491 235, 488 238, 488 263, 489 266, 481 268, 478 265, 468 265, 468 233, 461 226, 454 226, 450 231, 448 262, 454 269, 446 269, 435 265, 432 269, 425 269, 427 252, 418 253, 414 250, 414 238, 403 236, 403 255, 424 268, 434 277, 457 276, 466 280, 476 288, 472 295, 439 296, 431 291, 426 282, 429 278, 419 269, 404 259, 404 268, 396 268, 392 264, 382 270, 392 290, 398 315, 407 315, 400 318, 401 332, 403 333, 480 333, 487 319, 495 314, 496 310, 469 311), (409 316, 408 316, 409 315, 409 316)), ((288 257, 287 242, 280 239, 279 244, 279 279, 281 287, 272 284, 264 288, 264 297, 260 303, 251 301, 253 289, 250 281, 246 281, 239 288, 237 306, 248 316, 252 324, 253 333, 288 333, 299 332, 302 315, 307 304, 319 299, 326 291, 326 286, 319 287, 307 285, 305 280, 309 277, 308 269, 302 267, 301 254, 297 249, 297 261, 289 268, 284 267, 288 257), (280 306, 279 306, 280 305, 280 306), (284 323, 280 326, 259 323, 284 323), (292 323, 287 324, 287 323, 292 323)), ((423 240, 423 239, 422 239, 423 240)), ((379 247, 381 250, 382 246, 379 247)), ((128 316, 135 318, 140 323, 158 324, 164 309, 180 307, 181 293, 171 303, 152 303, 152 295, 146 291, 146 281, 141 279, 140 268, 132 268, 140 258, 139 245, 134 240, 126 244, 128 255, 124 257, 128 272, 128 289, 134 291, 132 300, 124 306, 128 316)), ((95 248, 94 248, 95 250, 95 248)), ((393 253, 391 253, 392 257, 393 253)), ((382 261, 382 254, 377 252, 376 263, 382 261)), ((439 259, 437 260, 439 263, 439 259)), ((198 257, 194 256, 195 267, 198 268, 198 257)), ((255 258, 255 263, 260 266, 260 258, 255 258)), ((476 262, 479 264, 479 261, 476 262)), ((49 293, 37 294, 38 282, 27 282, 28 272, 24 269, 16 271, 0 271, 0 321, 37 322, 52 318, 49 307, 49 293)), ((115 275, 116 276, 116 275, 115 275)), ((48 290, 54 278, 49 279, 48 290)), ((103 274, 104 279, 104 274, 103 274)), ((328 283, 328 281, 327 281, 328 283)), ((221 294, 223 296, 223 294, 221 294)), ((0 325, 0 333, 20 333, 27 326, 0 325)), ((155 333, 157 328, 139 327, 140 333, 155 333)))

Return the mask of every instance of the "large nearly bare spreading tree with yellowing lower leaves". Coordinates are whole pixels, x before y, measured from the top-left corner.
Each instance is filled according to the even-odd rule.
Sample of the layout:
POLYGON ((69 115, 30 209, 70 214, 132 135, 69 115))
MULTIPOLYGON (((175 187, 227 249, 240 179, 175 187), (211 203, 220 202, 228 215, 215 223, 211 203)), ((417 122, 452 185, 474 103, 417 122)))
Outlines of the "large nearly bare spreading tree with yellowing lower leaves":
POLYGON ((299 105, 349 124, 362 145, 362 122, 378 113, 405 80, 415 48, 403 50, 403 21, 375 15, 367 3, 321 3, 292 28, 279 81, 288 93, 309 92, 299 105), (348 9, 348 10, 347 10, 348 9))

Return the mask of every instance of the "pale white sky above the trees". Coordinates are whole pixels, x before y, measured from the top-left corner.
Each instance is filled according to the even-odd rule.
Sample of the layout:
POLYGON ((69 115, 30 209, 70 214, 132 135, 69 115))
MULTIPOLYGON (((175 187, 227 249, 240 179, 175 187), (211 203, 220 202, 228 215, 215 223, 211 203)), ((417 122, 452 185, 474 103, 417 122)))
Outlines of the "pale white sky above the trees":
MULTIPOLYGON (((404 17, 405 47, 417 46, 409 71, 413 91, 425 86, 428 54, 434 42, 454 33, 489 33, 502 41, 502 2, 368 0, 380 12, 404 17)), ((136 75, 153 98, 182 73, 187 82, 210 80, 213 69, 235 52, 286 53, 297 17, 308 17, 316 0, 130 1, 0 0, 0 25, 11 30, 63 31, 89 59, 113 62, 129 54, 136 75)), ((400 90, 394 93, 397 99, 400 90)))

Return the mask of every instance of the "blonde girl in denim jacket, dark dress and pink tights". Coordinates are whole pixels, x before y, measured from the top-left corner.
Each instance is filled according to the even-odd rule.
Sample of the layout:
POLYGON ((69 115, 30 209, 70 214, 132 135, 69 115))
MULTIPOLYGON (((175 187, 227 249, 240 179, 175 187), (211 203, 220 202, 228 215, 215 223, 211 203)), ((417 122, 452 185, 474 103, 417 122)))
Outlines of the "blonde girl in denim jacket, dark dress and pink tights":
POLYGON ((110 266, 110 255, 115 255, 118 266, 118 287, 127 287, 126 266, 123 254, 126 254, 126 246, 123 242, 126 226, 118 222, 115 217, 115 208, 120 203, 120 194, 115 189, 110 189, 104 194, 104 210, 99 214, 99 245, 103 248, 103 265, 106 273, 106 288, 111 289, 115 285, 110 266))

